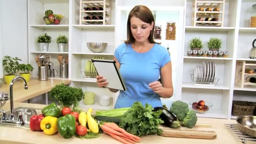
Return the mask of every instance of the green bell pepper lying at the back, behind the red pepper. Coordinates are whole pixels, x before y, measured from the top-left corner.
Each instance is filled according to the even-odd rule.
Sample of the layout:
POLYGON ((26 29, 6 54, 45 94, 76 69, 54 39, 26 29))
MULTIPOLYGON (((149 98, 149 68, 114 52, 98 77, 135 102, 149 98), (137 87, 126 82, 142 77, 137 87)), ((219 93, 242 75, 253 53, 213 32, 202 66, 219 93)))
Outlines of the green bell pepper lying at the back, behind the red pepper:
POLYGON ((49 104, 48 106, 44 107, 42 109, 42 114, 46 116, 51 116, 51 117, 60 117, 61 116, 61 109, 57 107, 57 105, 53 102, 49 104))

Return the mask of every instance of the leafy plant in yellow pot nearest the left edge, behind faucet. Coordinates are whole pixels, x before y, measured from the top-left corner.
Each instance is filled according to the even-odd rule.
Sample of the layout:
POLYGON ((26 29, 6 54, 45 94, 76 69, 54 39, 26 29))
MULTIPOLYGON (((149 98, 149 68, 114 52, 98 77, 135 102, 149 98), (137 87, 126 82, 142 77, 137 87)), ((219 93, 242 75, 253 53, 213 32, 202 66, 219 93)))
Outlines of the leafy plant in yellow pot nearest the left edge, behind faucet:
POLYGON ((10 84, 18 71, 18 65, 21 59, 17 57, 4 56, 3 57, 3 69, 7 74, 4 75, 5 83, 10 84))

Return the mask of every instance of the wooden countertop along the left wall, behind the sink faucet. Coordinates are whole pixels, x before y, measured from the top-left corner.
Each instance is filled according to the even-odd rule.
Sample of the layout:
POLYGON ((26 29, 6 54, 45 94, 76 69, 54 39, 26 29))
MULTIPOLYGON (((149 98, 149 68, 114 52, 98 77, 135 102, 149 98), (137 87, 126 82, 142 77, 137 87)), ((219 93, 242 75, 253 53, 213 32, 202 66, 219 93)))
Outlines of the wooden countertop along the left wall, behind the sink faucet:
MULTIPOLYGON (((49 78, 46 81, 40 81, 37 78, 31 78, 29 82, 27 82, 27 90, 24 89, 24 83, 21 80, 16 81, 13 85, 13 101, 22 102, 34 98, 51 91, 55 85, 61 83, 68 85, 71 83, 71 80, 56 80, 49 78)), ((10 94, 10 85, 4 84, 3 87, 0 88, 0 91, 10 94)))

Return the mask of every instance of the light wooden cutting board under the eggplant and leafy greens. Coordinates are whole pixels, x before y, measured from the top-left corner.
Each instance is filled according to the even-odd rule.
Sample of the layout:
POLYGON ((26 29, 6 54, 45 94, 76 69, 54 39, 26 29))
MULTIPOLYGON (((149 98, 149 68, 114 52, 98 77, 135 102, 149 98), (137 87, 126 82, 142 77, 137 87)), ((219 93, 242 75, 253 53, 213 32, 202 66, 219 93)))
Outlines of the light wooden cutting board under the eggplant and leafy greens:
POLYGON ((213 131, 211 125, 206 123, 197 123, 194 128, 169 128, 160 125, 163 132, 161 136, 178 137, 178 138, 193 138, 193 139, 215 139, 216 132, 213 131))

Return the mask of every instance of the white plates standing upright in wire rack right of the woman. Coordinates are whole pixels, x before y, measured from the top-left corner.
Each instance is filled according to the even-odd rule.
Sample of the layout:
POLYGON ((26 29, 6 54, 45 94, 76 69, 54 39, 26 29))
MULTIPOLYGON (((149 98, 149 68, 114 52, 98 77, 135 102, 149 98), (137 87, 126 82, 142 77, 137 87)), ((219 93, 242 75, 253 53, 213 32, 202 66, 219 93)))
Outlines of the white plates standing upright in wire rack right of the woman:
POLYGON ((193 80, 195 83, 213 83, 216 75, 216 65, 214 61, 203 61, 202 66, 194 69, 193 80))

